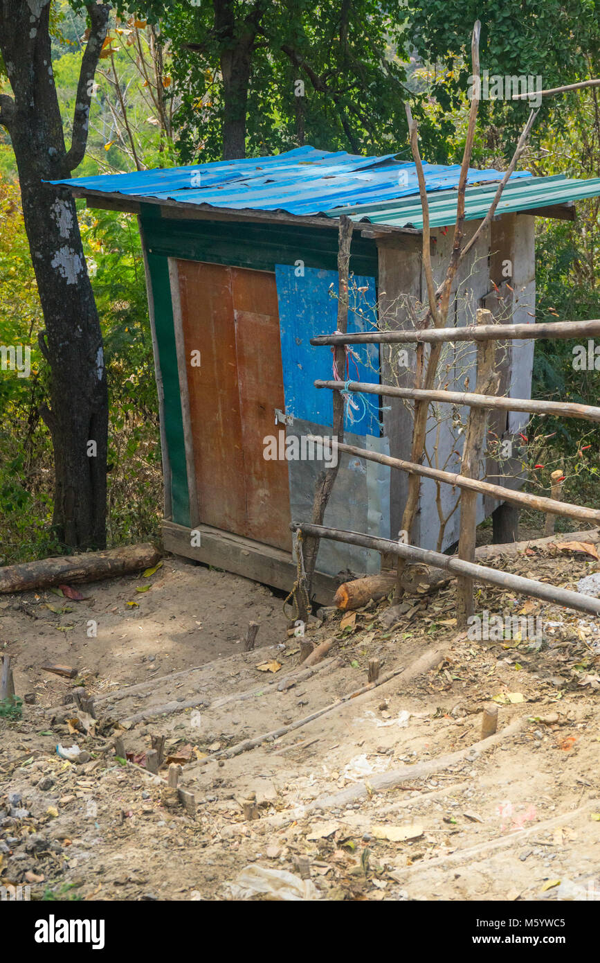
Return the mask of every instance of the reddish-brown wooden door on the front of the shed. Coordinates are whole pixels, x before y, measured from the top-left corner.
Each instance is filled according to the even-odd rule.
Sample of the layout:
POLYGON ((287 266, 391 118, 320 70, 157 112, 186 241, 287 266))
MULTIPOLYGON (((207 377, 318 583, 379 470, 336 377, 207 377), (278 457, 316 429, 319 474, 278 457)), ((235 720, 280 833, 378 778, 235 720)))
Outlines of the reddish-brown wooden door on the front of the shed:
POLYGON ((263 457, 285 408, 275 274, 177 265, 200 520, 288 549, 287 461, 263 457))

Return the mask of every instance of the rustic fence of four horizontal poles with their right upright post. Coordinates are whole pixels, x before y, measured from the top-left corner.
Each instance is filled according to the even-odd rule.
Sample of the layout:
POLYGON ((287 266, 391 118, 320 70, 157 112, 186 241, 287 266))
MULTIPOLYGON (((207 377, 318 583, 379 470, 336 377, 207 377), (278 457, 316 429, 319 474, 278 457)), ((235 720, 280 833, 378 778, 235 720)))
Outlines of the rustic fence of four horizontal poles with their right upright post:
MULTIPOLYGON (((337 442, 337 439, 331 439, 333 446, 335 446, 340 452, 346 452, 348 455, 358 455, 359 457, 367 460, 377 461, 380 464, 389 465, 391 468, 408 472, 410 475, 434 479, 435 481, 441 481, 445 484, 450 484, 453 487, 458 487, 461 489, 461 532, 459 539, 459 558, 453 559, 452 564, 445 561, 448 559, 447 556, 442 556, 439 553, 426 552, 424 549, 416 548, 416 546, 396 546, 395 549, 387 547, 382 551, 395 554, 399 557, 399 572, 403 564, 402 559, 412 558, 416 560, 425 560, 425 556, 427 555, 431 557, 431 564, 437 565, 437 567, 445 567, 456 571, 459 575, 459 585, 457 591, 457 617, 459 625, 462 627, 466 624, 466 619, 468 618, 469 614, 473 612, 473 578, 483 578, 481 573, 485 571, 486 578, 484 578, 484 581, 491 582, 494 585, 508 585, 506 582, 498 581, 499 575, 502 575, 502 573, 494 573, 494 578, 491 578, 487 574, 492 571, 491 569, 484 570, 482 566, 474 563, 475 534, 477 528, 477 494, 489 495, 498 501, 508 502, 510 505, 536 508, 539 511, 546 512, 549 517, 562 515, 566 518, 576 518, 586 522, 600 522, 600 510, 595 508, 571 505, 558 501, 558 499, 545 498, 543 496, 534 495, 530 492, 515 491, 512 488, 506 488, 503 485, 492 484, 488 481, 481 481, 476 477, 478 475, 478 466, 485 447, 487 410, 524 411, 536 415, 556 415, 561 418, 580 418, 589 422, 600 422, 600 407, 596 407, 594 405, 576 404, 570 402, 546 402, 536 399, 510 398, 490 394, 490 392, 493 391, 494 387, 497 385, 497 379, 494 376, 494 352, 496 350, 496 346, 493 344, 493 342, 512 341, 516 339, 530 340, 533 338, 590 339, 595 336, 600 336, 600 320, 562 321, 540 325, 501 325, 489 324, 488 322, 491 318, 492 315, 489 311, 479 308, 477 310, 477 324, 465 325, 464 327, 434 327, 423 328, 422 330, 412 328, 412 330, 396 331, 372 330, 355 334, 337 331, 336 334, 320 335, 318 337, 311 338, 312 345, 336 346, 337 351, 341 345, 345 346, 360 344, 429 343, 431 345, 439 345, 445 342, 453 343, 458 341, 471 341, 476 344, 477 383, 475 386, 475 392, 469 393, 461 391, 434 390, 433 387, 428 387, 427 389, 401 388, 389 384, 374 384, 368 382, 362 383, 360 381, 350 380, 341 381, 338 378, 334 380, 314 381, 314 386, 316 388, 328 388, 334 391, 334 398, 339 398, 342 392, 352 391, 362 394, 381 395, 387 398, 412 399, 412 401, 416 403, 417 407, 419 403, 424 402, 440 402, 459 405, 465 404, 470 407, 471 410, 469 411, 467 421, 464 451, 462 453, 461 474, 456 472, 442 471, 441 469, 432 468, 428 465, 418 464, 416 461, 405 461, 402 458, 393 458, 389 455, 380 455, 377 452, 369 452, 362 448, 356 448, 353 445, 345 445, 343 442, 337 442), (436 557, 437 560, 434 560, 434 557, 436 557), (477 571, 480 572, 479 576, 477 575, 477 571)), ((433 348, 432 351, 438 351, 438 349, 433 348)), ((337 369, 339 370, 339 363, 337 364, 337 369)), ((313 441, 320 440, 323 442, 324 440, 322 438, 317 439, 313 435, 309 435, 309 438, 313 441)), ((302 530, 304 532, 310 533, 311 528, 315 529, 314 526, 302 525, 302 530)), ((316 534, 315 532, 313 534, 315 537, 339 538, 341 541, 349 541, 350 544, 363 546, 366 545, 366 542, 357 539, 362 538, 368 540, 370 537, 366 535, 360 535, 358 533, 340 533, 338 530, 325 530, 323 528, 321 528, 320 533, 316 534), (325 534, 326 531, 328 531, 330 534, 325 534), (331 534, 334 532, 337 534, 331 534), (354 540, 350 539, 350 535, 354 540)), ((371 541, 374 540, 371 539, 371 541)), ((387 545, 396 545, 395 542, 388 543, 387 539, 375 539, 375 541, 380 541, 382 544, 385 542, 387 545)), ((375 548, 376 546, 372 545, 372 547, 375 548)), ((506 573, 504 573, 503 578, 508 578, 506 573)), ((512 586, 517 588, 519 591, 524 591, 526 594, 537 595, 537 597, 545 598, 547 601, 558 600, 560 589, 556 588, 555 586, 549 590, 546 589, 546 594, 540 594, 540 590, 538 588, 536 588, 534 591, 531 587, 538 585, 537 583, 532 582, 532 580, 521 579, 520 584, 524 587, 519 588, 519 580, 517 577, 511 576, 510 578, 512 579, 512 586)), ((571 596, 571 608, 579 608, 581 611, 586 612, 600 612, 600 602, 595 601, 595 608, 586 609, 585 607, 582 608, 581 604, 575 604, 574 600, 577 598, 577 593, 570 592, 567 594, 571 596)))

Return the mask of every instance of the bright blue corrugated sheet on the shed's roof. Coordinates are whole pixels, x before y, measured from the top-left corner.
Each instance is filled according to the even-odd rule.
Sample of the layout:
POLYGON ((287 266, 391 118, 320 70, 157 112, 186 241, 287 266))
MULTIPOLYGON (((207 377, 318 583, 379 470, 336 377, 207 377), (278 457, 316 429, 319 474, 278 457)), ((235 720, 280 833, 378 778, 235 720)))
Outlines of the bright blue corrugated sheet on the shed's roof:
MULTIPOLYGON (((396 156, 358 157, 342 150, 332 153, 307 145, 274 157, 76 177, 52 183, 67 184, 83 194, 118 194, 136 200, 208 204, 230 210, 325 214, 346 205, 418 195, 414 163, 396 160, 396 156)), ((424 164, 423 169, 428 192, 458 186, 458 164, 424 164)), ((502 176, 498 170, 471 168, 468 183, 498 181, 502 176)), ((522 177, 531 174, 528 170, 515 171, 511 181, 522 177)))

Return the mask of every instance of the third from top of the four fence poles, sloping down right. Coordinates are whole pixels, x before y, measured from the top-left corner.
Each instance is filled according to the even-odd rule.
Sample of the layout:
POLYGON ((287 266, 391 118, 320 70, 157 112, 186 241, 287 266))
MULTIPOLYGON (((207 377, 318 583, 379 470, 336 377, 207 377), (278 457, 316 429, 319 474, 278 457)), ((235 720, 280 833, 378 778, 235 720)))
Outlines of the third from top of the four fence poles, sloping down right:
MULTIPOLYGON (((318 435, 307 435, 312 441, 323 441, 318 435)), ((489 481, 478 481, 477 479, 467 479, 463 475, 454 472, 444 472, 441 468, 430 468, 429 465, 417 465, 413 461, 404 461, 402 458, 392 458, 389 455, 380 455, 379 452, 367 452, 364 448, 356 448, 354 445, 345 445, 341 442, 332 442, 332 447, 337 447, 340 452, 347 452, 348 455, 358 455, 360 458, 367 458, 369 461, 378 461, 381 465, 389 465, 390 468, 399 468, 400 471, 410 472, 412 475, 420 475, 421 478, 436 479, 445 481, 455 488, 467 488, 470 491, 479 492, 482 495, 491 495, 492 498, 500 502, 510 502, 512 505, 525 505, 528 508, 536 508, 537 511, 551 511, 555 515, 563 515, 564 518, 579 518, 584 522, 600 522, 600 510, 597 508, 585 508, 581 505, 571 505, 569 502, 555 502, 551 498, 543 495, 533 495, 531 492, 513 491, 512 488, 505 488, 501 484, 491 484, 489 481)))

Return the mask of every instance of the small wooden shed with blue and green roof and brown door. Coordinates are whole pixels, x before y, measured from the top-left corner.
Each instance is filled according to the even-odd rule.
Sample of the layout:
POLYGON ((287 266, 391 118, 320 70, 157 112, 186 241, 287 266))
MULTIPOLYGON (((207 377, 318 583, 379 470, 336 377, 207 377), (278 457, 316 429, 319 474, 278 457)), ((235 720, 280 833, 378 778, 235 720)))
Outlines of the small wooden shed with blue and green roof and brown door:
MULTIPOLYGON (((452 246, 460 168, 427 164, 424 172, 439 281, 452 246)), ((501 177, 469 170, 467 238, 501 177)), ((324 467, 302 441, 332 430, 332 392, 313 381, 332 378, 333 355, 310 339, 336 329, 338 218, 355 221, 348 329, 416 324, 426 294, 414 164, 394 154, 358 157, 303 146, 273 157, 61 183, 89 207, 138 218, 161 409, 165 548, 288 589, 295 575, 289 523, 310 520, 324 467)), ((499 322, 534 324, 535 217, 572 218, 575 199, 598 194, 600 179, 512 174, 496 216, 462 263, 452 324, 472 323, 478 307, 499 322)), ((462 390, 472 377, 473 358, 461 352, 453 348, 442 358, 442 386, 462 390)), ((506 343, 503 393, 531 397, 533 353, 533 341, 506 343)), ((363 345, 348 354, 345 376, 338 374, 409 386, 413 368, 412 352, 401 358, 363 345)), ((411 407, 373 395, 352 398, 346 440, 409 457, 411 407)), ((432 408, 428 457, 437 467, 458 469, 464 414, 432 408)), ((494 437, 514 438, 524 417, 503 413, 491 426, 494 437)), ((491 455, 487 473, 499 474, 491 455)), ((516 474, 513 483, 520 483, 516 474)), ((342 455, 325 524, 397 537, 406 485, 401 472, 342 455)), ((456 541, 456 496, 447 485, 438 492, 434 481, 422 482, 417 544, 443 550, 456 541)), ((482 500, 480 518, 496 506, 482 500)), ((379 566, 376 553, 322 543, 315 596, 330 599, 341 578, 379 566)))

